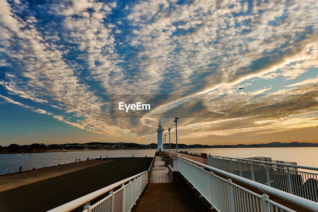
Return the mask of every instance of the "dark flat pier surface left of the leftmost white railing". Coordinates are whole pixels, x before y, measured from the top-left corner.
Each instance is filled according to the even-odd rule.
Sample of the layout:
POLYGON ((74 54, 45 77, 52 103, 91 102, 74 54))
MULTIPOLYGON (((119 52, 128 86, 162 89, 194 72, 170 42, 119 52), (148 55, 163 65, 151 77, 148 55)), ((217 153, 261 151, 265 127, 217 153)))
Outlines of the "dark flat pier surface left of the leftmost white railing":
MULTIPOLYGON (((102 160, 98 161, 99 160, 96 160, 97 163, 95 166, 82 168, 77 171, 0 192, 1 211, 22 212, 50 210, 100 188, 148 170, 152 158, 111 159, 107 160, 107 162, 102 162, 102 160)), ((86 161, 83 161, 80 164, 85 164, 84 162, 86 163, 86 161)), ((73 165, 76 166, 78 164, 79 163, 74 163, 73 165)), ((65 171, 63 166, 46 168, 46 171, 52 172, 50 170, 52 168, 60 168, 61 172, 65 171)), ((54 172, 58 172, 58 170, 54 172)), ((33 171, 33 173, 36 172, 33 171)), ((22 174, 23 173, 20 173, 20 178, 22 174)), ((31 178, 30 174, 32 174, 32 171, 24 176, 31 178)), ((16 175, 3 177, 8 176, 17 177, 16 175)), ((98 200, 100 199, 101 198, 98 198, 98 200)), ((94 203, 94 200, 92 203, 94 203)), ((82 207, 79 207, 78 210, 74 211, 82 211, 82 209, 82 207)))

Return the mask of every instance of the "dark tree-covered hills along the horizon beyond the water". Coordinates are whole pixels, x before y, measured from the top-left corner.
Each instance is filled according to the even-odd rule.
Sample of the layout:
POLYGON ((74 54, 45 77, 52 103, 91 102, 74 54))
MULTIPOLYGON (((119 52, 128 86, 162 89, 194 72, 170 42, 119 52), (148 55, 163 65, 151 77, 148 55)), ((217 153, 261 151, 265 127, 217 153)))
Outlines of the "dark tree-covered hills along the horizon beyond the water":
MULTIPOLYGON (((201 145, 201 144, 178 144, 178 149, 194 149, 194 148, 252 148, 252 147, 318 147, 316 143, 281 143, 272 142, 268 144, 238 144, 238 145, 201 145)), ((157 144, 136 144, 136 143, 108 143, 108 142, 89 142, 85 144, 68 143, 68 144, 31 144, 31 145, 17 145, 10 144, 9 146, 0 145, 0 153, 29 153, 29 152, 46 152, 46 151, 63 151, 63 150, 99 150, 99 149, 156 149, 157 144)), ((169 149, 169 144, 167 144, 169 149)), ((171 149, 176 149, 176 144, 171 143, 171 149)))

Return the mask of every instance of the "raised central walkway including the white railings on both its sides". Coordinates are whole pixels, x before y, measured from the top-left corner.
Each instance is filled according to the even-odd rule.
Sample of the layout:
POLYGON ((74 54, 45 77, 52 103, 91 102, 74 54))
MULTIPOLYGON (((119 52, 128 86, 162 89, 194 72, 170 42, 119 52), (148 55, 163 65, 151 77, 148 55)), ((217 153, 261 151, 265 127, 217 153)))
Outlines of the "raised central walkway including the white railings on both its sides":
MULTIPOLYGON (((171 208, 174 208, 173 211, 318 212, 315 201, 197 162, 193 158, 180 155, 170 158, 172 166, 168 165, 167 170, 163 165, 165 154, 157 154, 148 171, 82 196, 50 212, 71 211, 81 205, 82 212, 171 211, 171 208), (173 183, 168 182, 168 176, 173 183), (106 197, 93 204, 91 200, 101 194, 106 197)), ((261 165, 261 162, 256 163, 261 165)), ((279 164, 279 167, 282 166, 297 168, 295 165, 279 164)), ((239 169, 239 173, 243 173, 243 169, 239 169)))

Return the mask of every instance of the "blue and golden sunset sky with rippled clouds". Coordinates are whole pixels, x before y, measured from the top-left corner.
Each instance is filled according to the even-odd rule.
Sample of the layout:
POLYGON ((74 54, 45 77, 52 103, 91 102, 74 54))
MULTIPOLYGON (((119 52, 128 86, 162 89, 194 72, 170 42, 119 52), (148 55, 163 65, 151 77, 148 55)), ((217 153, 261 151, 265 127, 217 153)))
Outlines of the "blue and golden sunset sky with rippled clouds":
POLYGON ((317 86, 317 1, 0 0, 2 146, 317 143, 317 86))

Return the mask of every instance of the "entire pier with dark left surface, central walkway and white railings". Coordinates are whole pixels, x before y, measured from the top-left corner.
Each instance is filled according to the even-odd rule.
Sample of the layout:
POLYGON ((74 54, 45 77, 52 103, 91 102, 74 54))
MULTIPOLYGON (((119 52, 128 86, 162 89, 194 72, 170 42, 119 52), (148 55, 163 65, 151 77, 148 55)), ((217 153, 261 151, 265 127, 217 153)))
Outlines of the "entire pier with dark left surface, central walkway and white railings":
MULTIPOLYGON (((269 167, 266 163, 272 162, 212 155, 208 155, 207 160, 205 155, 180 153, 169 158, 168 154, 160 152, 154 158, 83 161, 1 176, 0 206, 3 211, 15 208, 50 212, 318 212, 318 203, 312 201, 317 194, 315 184, 309 184, 310 192, 304 190, 306 198, 303 198, 286 192, 297 190, 297 187, 288 187, 288 179, 292 178, 284 181, 285 178, 276 179, 268 174, 275 173, 268 170, 283 169, 280 176, 307 173, 310 180, 318 175, 309 174, 310 170, 317 168, 275 163, 269 167), (206 161, 208 164, 204 164, 206 161), (264 166, 265 172, 258 172, 257 166, 264 166), (300 170, 303 168, 307 171, 300 170), (258 182, 257 179, 264 179, 262 174, 270 185, 267 181, 258 182), (278 182, 285 182, 287 187, 282 189, 287 190, 275 188, 278 182)), ((302 187, 308 186, 305 180, 302 187)))

